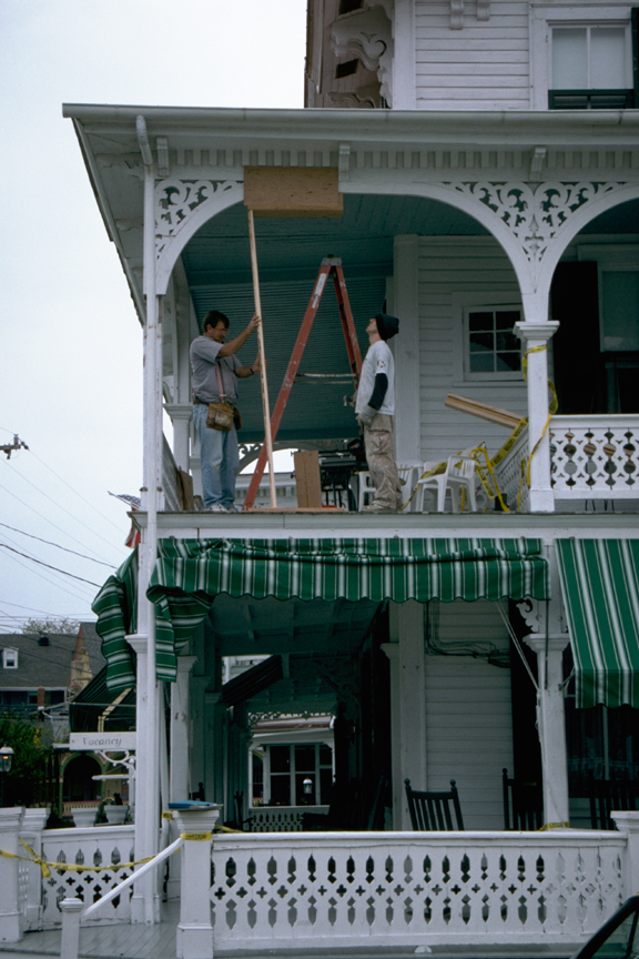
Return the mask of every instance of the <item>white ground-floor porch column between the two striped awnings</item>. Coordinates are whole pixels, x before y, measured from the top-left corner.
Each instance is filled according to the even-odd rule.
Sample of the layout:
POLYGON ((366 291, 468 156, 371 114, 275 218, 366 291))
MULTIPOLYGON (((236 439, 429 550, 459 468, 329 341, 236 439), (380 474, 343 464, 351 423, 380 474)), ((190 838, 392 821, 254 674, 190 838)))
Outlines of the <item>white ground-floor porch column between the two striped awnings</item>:
POLYGON ((548 637, 532 633, 525 637, 525 642, 537 654, 537 726, 541 746, 544 822, 567 824, 568 753, 561 683, 562 653, 569 638, 566 633, 551 633, 548 637))

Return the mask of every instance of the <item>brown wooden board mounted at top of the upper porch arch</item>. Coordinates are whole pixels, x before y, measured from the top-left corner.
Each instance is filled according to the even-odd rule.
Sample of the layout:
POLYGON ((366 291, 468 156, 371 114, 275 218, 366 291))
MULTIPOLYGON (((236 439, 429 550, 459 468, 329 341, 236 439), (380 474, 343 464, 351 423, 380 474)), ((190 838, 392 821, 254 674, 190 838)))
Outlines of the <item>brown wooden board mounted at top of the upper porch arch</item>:
POLYGON ((342 216, 336 166, 245 166, 244 205, 255 216, 342 216))

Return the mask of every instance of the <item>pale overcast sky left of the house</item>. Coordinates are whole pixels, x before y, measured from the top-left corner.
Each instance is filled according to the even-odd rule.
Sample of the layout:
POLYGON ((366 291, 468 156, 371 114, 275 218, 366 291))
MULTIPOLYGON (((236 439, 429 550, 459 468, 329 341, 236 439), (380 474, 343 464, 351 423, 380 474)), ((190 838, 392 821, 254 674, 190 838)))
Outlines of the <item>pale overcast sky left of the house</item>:
POLYGON ((94 618, 91 583, 128 555, 108 491, 142 484, 141 330, 61 104, 302 107, 305 17, 305 0, 0 0, 0 444, 29 446, 0 454, 2 633, 94 618))

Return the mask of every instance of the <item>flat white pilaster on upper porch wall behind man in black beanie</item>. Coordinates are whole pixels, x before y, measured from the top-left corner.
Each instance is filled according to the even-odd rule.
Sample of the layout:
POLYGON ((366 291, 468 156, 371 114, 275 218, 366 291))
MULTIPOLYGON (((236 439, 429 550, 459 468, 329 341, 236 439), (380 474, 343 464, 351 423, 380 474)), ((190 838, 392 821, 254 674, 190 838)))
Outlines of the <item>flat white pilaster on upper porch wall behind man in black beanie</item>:
POLYGON ((390 341, 395 357, 395 456, 397 463, 406 464, 422 462, 418 244, 418 236, 395 236, 393 312, 399 317, 399 333, 390 341))

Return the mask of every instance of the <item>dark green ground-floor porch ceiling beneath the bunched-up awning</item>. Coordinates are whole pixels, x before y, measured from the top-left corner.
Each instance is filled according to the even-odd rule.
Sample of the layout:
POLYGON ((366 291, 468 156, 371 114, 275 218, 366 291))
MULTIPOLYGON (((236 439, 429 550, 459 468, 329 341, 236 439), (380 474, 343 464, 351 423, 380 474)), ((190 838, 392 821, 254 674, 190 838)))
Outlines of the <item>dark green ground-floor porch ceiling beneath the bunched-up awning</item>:
POLYGON ((353 655, 365 638, 378 604, 369 599, 334 603, 324 599, 215 597, 209 620, 220 656, 278 653, 353 655))

